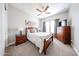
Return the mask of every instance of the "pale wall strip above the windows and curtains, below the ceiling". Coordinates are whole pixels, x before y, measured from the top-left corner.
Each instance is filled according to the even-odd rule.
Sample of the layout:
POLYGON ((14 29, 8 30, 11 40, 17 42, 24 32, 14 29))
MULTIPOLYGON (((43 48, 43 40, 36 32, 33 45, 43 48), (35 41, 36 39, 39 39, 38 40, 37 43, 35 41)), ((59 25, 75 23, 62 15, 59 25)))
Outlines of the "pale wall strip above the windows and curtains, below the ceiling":
MULTIPOLYGON (((48 18, 41 19, 40 27, 43 28, 43 22, 44 22, 44 21, 55 20, 55 19, 60 19, 60 20, 68 19, 68 11, 61 12, 61 13, 52 15, 52 16, 50 16, 50 17, 48 17, 48 18), (41 25, 41 24, 42 24, 42 25, 41 25)), ((43 29, 42 29, 42 30, 43 30, 43 29)))

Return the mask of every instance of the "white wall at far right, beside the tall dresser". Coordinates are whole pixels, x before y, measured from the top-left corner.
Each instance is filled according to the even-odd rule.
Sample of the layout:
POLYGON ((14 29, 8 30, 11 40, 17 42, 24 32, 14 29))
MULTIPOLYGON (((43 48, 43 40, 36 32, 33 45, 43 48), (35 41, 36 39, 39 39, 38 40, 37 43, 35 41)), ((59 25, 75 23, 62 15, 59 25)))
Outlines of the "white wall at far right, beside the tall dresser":
POLYGON ((79 54, 79 4, 72 4, 69 9, 69 17, 72 26, 72 45, 79 54))

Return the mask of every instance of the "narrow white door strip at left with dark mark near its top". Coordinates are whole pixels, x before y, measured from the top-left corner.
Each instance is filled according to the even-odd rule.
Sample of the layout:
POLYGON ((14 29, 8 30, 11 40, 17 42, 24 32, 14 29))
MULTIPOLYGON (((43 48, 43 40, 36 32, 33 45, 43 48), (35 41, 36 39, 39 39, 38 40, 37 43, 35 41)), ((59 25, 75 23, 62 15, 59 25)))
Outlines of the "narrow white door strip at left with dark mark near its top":
POLYGON ((3 11, 3 32, 5 39, 5 46, 8 46, 8 4, 4 4, 3 11))

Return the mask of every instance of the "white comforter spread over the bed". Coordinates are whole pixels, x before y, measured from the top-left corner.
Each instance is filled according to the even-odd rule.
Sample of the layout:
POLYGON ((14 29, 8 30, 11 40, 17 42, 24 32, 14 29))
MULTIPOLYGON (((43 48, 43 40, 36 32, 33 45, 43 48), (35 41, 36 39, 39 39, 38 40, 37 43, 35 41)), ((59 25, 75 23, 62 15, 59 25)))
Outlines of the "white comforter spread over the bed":
POLYGON ((48 40, 51 36, 51 33, 46 32, 36 32, 27 34, 28 40, 34 43, 39 48, 40 53, 43 51, 44 39, 48 40))

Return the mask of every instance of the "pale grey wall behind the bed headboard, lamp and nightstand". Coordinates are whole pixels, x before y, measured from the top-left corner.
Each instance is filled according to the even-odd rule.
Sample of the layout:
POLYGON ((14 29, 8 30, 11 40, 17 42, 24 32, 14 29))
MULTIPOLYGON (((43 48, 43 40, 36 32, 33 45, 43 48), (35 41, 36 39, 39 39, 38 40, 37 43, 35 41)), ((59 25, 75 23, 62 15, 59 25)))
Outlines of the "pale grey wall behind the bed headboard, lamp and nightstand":
MULTIPOLYGON (((27 9, 28 10, 28 9, 27 9)), ((24 11, 9 4, 8 6, 8 27, 9 27, 9 45, 15 42, 15 34, 18 28, 25 27, 25 20, 35 23, 34 26, 39 26, 39 20, 33 15, 29 15, 24 11)))

